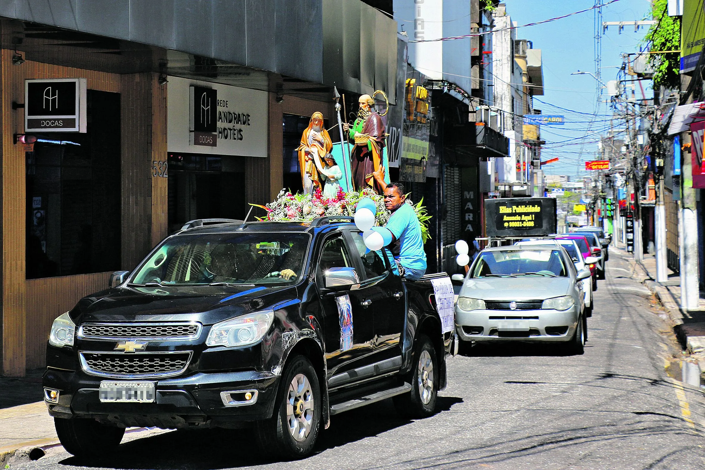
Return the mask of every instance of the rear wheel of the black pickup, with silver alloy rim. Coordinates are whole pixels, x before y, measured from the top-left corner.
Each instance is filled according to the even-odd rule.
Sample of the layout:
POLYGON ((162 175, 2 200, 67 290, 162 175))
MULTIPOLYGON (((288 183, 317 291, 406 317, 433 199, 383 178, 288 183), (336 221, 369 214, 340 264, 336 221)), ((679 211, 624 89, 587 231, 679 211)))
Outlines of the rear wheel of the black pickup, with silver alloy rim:
POLYGON ((436 411, 440 378, 436 350, 427 335, 419 336, 413 357, 411 392, 394 397, 394 406, 402 416, 425 418, 436 411))

